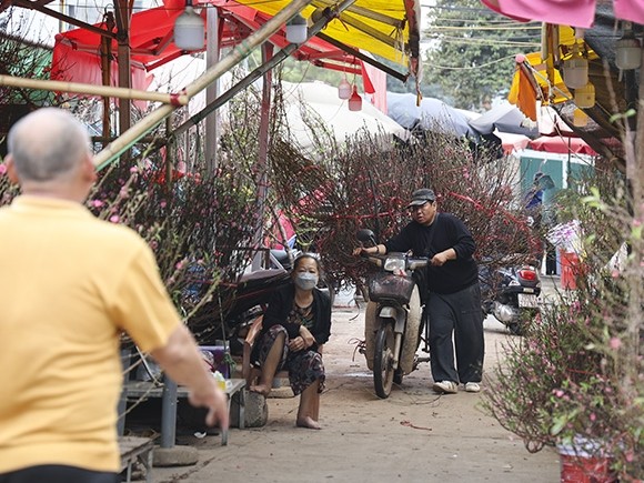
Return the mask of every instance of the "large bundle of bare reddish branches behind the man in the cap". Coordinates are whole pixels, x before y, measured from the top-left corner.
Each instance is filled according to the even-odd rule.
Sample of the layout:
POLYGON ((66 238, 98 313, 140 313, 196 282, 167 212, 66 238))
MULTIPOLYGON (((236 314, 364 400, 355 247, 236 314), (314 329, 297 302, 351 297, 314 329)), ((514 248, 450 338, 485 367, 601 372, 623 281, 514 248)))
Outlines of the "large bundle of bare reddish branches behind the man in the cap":
POLYGON ((439 209, 461 218, 491 268, 525 260, 533 232, 515 200, 512 170, 504 160, 469 143, 427 132, 422 144, 404 144, 383 133, 329 142, 321 160, 292 142, 273 142, 271 185, 276 202, 294 221, 300 242, 319 251, 335 286, 359 284, 365 264, 351 255, 355 232, 372 229, 384 241, 410 221, 411 193, 432 188, 439 209))

